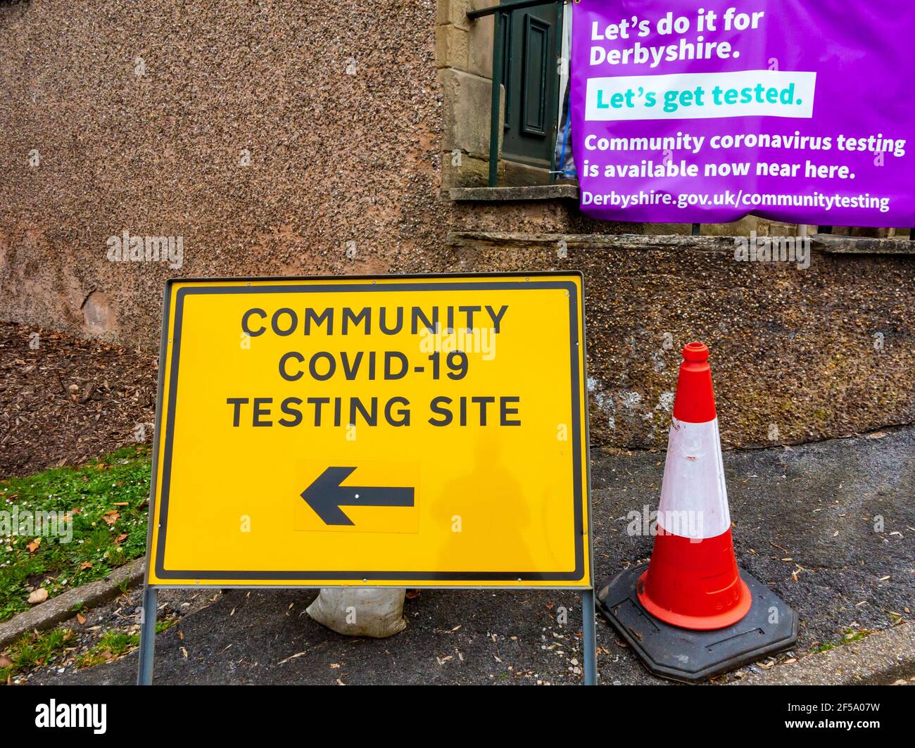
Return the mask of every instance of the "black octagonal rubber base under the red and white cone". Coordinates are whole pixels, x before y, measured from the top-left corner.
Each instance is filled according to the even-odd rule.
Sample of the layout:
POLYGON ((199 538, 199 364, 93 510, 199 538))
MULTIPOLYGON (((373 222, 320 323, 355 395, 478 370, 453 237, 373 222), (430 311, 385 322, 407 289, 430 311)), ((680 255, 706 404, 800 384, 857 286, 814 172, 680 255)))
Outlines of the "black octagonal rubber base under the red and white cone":
POLYGON ((597 588, 597 606, 656 676, 687 683, 712 678, 797 641, 797 614, 743 570, 740 576, 747 582, 753 604, 742 620, 714 631, 665 624, 636 597, 636 582, 647 568, 644 563, 605 580, 597 588))

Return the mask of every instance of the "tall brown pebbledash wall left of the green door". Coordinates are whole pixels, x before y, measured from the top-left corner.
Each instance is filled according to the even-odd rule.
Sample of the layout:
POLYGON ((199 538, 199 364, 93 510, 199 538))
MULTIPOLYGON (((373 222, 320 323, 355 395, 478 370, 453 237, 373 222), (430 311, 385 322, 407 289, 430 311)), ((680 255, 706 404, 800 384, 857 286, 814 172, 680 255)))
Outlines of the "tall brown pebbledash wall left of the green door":
POLYGON ((169 275, 447 270, 449 230, 619 230, 443 197, 437 12, 0 4, 0 318, 152 347, 169 275), (109 262, 124 231, 180 237, 182 266, 109 262))

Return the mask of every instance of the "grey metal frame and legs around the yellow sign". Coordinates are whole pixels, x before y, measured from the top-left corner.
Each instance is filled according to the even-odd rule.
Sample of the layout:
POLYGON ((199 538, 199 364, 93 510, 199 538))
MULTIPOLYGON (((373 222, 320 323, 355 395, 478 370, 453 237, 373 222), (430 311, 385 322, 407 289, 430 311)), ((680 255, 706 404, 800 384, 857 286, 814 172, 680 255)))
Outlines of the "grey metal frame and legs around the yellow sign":
MULTIPOLYGON (((384 281, 385 284, 393 284, 403 281, 404 283, 409 283, 411 280, 423 282, 423 283, 434 283, 440 281, 443 284, 449 283, 459 283, 461 279, 474 279, 479 280, 483 278, 491 278, 493 280, 503 280, 506 282, 521 283, 522 281, 530 281, 532 279, 544 280, 548 278, 558 278, 574 275, 578 277, 579 287, 581 290, 581 298, 578 300, 577 309, 580 310, 578 313, 576 322, 577 322, 577 336, 578 344, 581 347, 581 368, 577 372, 578 381, 573 381, 573 386, 578 385, 578 395, 582 401, 583 408, 583 422, 580 423, 581 433, 576 437, 576 449, 578 445, 581 445, 583 454, 578 455, 578 464, 580 465, 578 473, 578 479, 584 479, 584 486, 582 486, 583 495, 579 495, 577 486, 580 484, 576 481, 575 500, 576 505, 581 506, 581 502, 584 502, 584 516, 582 517, 583 522, 585 523, 585 531, 580 536, 581 537, 581 558, 578 562, 587 560, 587 582, 585 584, 577 584, 575 586, 563 585, 560 580, 556 580, 555 584, 537 584, 537 585, 523 585, 523 584, 514 584, 511 585, 499 585, 499 584, 485 584, 485 585, 474 585, 473 580, 468 580, 468 584, 429 584, 423 583, 422 580, 417 579, 415 582, 409 581, 407 577, 404 580, 401 576, 391 576, 388 575, 390 579, 396 579, 397 581, 409 582, 409 586, 415 589, 448 589, 448 590, 563 590, 569 592, 577 592, 581 594, 582 598, 582 614, 584 622, 583 630, 583 649, 584 649, 584 669, 585 669, 585 683, 586 685, 594 685, 597 679, 597 668, 596 668, 596 642, 595 642, 595 603, 594 603, 594 550, 593 550, 593 541, 592 541, 592 529, 591 529, 591 465, 590 465, 590 430, 588 428, 588 398, 587 398, 587 388, 584 387, 584 383, 587 382, 587 341, 586 341, 586 312, 585 312, 585 276, 583 272, 580 271, 533 271, 533 272, 446 272, 446 273, 393 273, 393 274, 371 274, 371 275, 311 275, 311 276, 227 276, 227 277, 195 277, 195 278, 169 278, 167 279, 164 290, 163 290, 163 301, 162 301, 162 333, 159 341, 159 356, 158 356, 158 387, 156 390, 156 427, 154 433, 154 443, 153 443, 153 456, 152 456, 152 479, 150 481, 150 497, 149 497, 149 518, 148 518, 148 527, 146 532, 146 556, 145 556, 145 572, 144 572, 144 593, 143 593, 143 606, 141 614, 141 630, 140 630, 140 651, 139 651, 139 669, 137 674, 137 684, 138 685, 150 685, 152 683, 153 675, 153 662, 154 662, 154 651, 155 651, 155 636, 156 636, 156 607, 157 607, 157 590, 161 588, 165 589, 310 589, 311 586, 307 583, 299 584, 281 584, 281 583, 257 583, 257 579, 253 578, 250 583, 242 584, 232 584, 232 583, 222 583, 215 581, 214 574, 209 573, 210 579, 214 579, 213 583, 207 583, 205 579, 205 574, 207 572, 201 572, 201 578, 198 583, 189 584, 187 582, 175 582, 175 583, 163 583, 163 582, 151 582, 151 563, 154 559, 158 559, 159 556, 153 552, 153 538, 154 538, 154 521, 156 520, 156 510, 157 507, 157 493, 158 493, 158 473, 160 467, 160 461, 162 455, 160 454, 160 434, 162 433, 161 428, 163 424, 163 394, 165 392, 165 376, 166 376, 166 362, 169 350, 169 327, 171 325, 170 309, 173 301, 174 287, 178 283, 212 283, 214 285, 219 283, 252 283, 257 282, 258 284, 277 282, 277 283, 295 283, 295 282, 304 282, 304 283, 314 283, 314 282, 330 282, 329 286, 338 285, 339 283, 349 283, 353 281, 357 282, 376 282, 384 281)), ((577 311, 577 310, 576 310, 577 311)), ((175 372, 172 372, 173 378, 175 372)), ((170 396, 170 405, 174 403, 174 394, 169 392, 170 396)), ((157 540, 160 545, 164 545, 164 532, 161 536, 157 536, 157 540)), ((576 539, 577 547, 577 539, 576 539)), ((576 558, 578 554, 576 552, 576 558)), ((237 573, 237 572, 236 572, 237 573)), ((399 572, 398 572, 399 573, 399 572)), ((483 573, 483 572, 481 572, 483 573)), ((497 572, 502 573, 502 572, 497 572)), ((510 572, 504 572, 508 574, 510 572)), ((511 572, 512 574, 514 572, 511 572)), ((156 576, 159 576, 158 571, 156 576)), ((193 575, 192 575, 193 576, 193 575)), ((159 576, 161 579, 161 577, 159 576)), ((376 577, 377 579, 378 577, 376 577)), ((187 580, 188 577, 182 576, 182 580, 187 580)), ((237 577, 236 577, 237 579, 237 577)), ((306 577, 306 579, 312 579, 311 577, 306 577)), ((498 581, 498 580, 497 580, 498 581)), ((520 580, 519 580, 520 581, 520 580)), ((328 588, 347 588, 347 587, 371 587, 379 586, 377 584, 372 585, 371 579, 365 579, 361 577, 361 574, 357 576, 350 575, 345 580, 340 579, 340 582, 337 584, 328 584, 323 580, 320 583, 321 587, 328 588)), ((392 589, 396 589, 400 585, 389 584, 392 589)))

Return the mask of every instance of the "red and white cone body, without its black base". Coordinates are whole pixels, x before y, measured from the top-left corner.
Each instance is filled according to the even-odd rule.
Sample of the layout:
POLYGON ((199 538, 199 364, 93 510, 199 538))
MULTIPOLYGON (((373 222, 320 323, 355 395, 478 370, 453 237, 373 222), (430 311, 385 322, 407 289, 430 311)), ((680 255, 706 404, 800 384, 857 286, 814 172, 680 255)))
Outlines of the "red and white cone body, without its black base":
POLYGON ((684 347, 654 552, 638 594, 655 618, 693 629, 736 624, 752 604, 734 558, 712 370, 702 343, 684 347))

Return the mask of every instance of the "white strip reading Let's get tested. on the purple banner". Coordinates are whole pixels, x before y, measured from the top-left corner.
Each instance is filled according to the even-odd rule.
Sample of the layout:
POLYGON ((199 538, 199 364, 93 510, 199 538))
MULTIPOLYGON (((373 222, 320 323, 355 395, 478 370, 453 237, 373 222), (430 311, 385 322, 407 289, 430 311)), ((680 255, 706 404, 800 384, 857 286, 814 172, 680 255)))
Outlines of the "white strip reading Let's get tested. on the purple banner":
POLYGON ((799 70, 626 75, 587 80, 585 119, 813 116, 816 73, 799 70))

